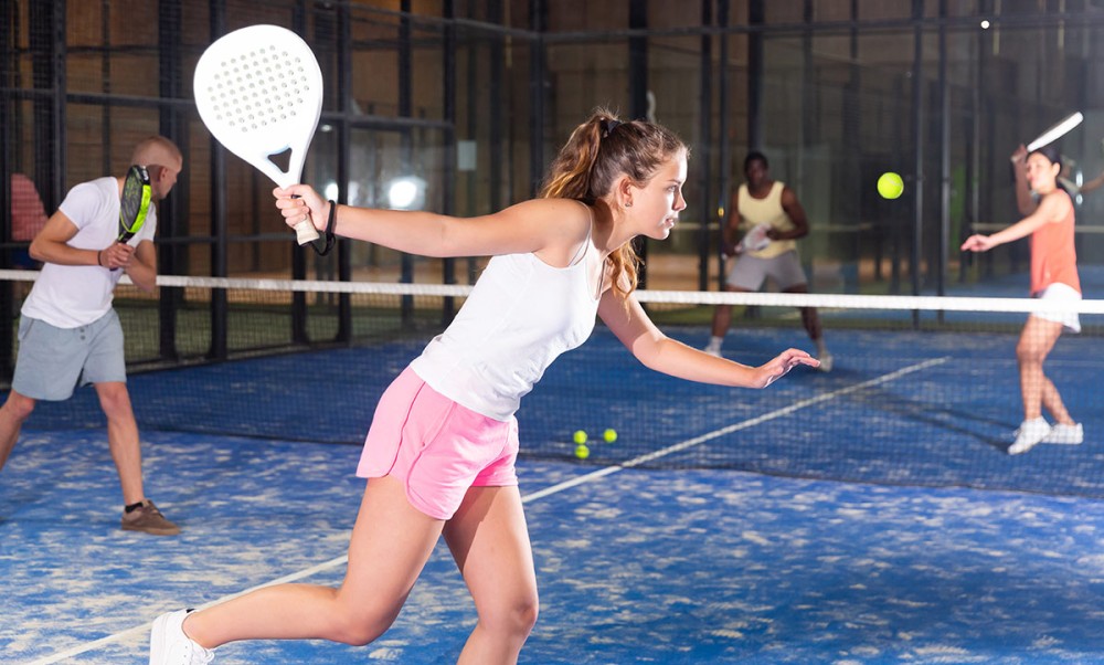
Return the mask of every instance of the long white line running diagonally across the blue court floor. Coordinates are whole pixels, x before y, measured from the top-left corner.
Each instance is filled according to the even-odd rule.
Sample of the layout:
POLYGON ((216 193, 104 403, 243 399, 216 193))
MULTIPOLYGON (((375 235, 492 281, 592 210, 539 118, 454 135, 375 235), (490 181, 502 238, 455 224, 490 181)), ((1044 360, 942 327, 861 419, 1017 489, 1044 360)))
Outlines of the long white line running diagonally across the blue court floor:
MULTIPOLYGON (((841 388, 840 390, 834 390, 831 392, 826 392, 826 393, 817 395, 815 398, 809 398, 809 399, 806 399, 806 400, 800 400, 800 401, 794 402, 793 404, 790 404, 788 407, 785 407, 783 409, 777 409, 775 411, 771 411, 769 413, 764 413, 763 415, 758 415, 756 418, 744 420, 744 421, 741 421, 739 423, 733 423, 733 424, 728 425, 725 428, 721 428, 720 430, 713 430, 712 432, 709 432, 707 434, 702 434, 701 436, 694 436, 693 439, 688 439, 688 440, 686 440, 683 442, 676 443, 673 445, 669 445, 669 446, 667 446, 665 448, 660 448, 658 451, 648 453, 646 455, 640 455, 638 457, 634 457, 634 458, 631 458, 631 460, 629 460, 627 462, 624 462, 622 464, 615 464, 613 466, 607 466, 605 468, 599 468, 599 469, 591 472, 588 474, 584 474, 582 476, 576 476, 576 477, 574 477, 574 478, 572 478, 570 481, 564 481, 563 483, 558 483, 555 485, 551 485, 549 487, 545 487, 544 489, 539 489, 539 490, 533 492, 531 494, 527 494, 526 496, 521 497, 521 502, 524 503, 524 504, 528 504, 528 503, 531 503, 531 502, 535 502, 535 500, 542 499, 542 498, 544 498, 546 496, 552 496, 553 494, 559 494, 561 492, 564 492, 565 489, 571 489, 572 487, 577 487, 578 485, 585 485, 586 483, 590 483, 592 481, 596 481, 598 478, 603 478, 605 476, 615 474, 617 472, 625 471, 626 468, 631 468, 634 466, 639 466, 639 465, 641 465, 641 464, 644 464, 646 462, 651 462, 652 460, 658 460, 660 457, 665 457, 665 456, 670 455, 672 453, 678 453, 678 452, 684 451, 687 448, 691 448, 691 447, 693 447, 696 445, 700 445, 702 443, 705 443, 707 441, 711 441, 711 440, 716 439, 719 436, 724 436, 724 435, 731 434, 733 432, 739 432, 740 430, 746 430, 747 428, 753 428, 755 425, 763 424, 765 422, 768 422, 768 421, 782 418, 784 415, 789 415, 790 413, 794 413, 795 411, 798 411, 800 409, 805 409, 806 407, 811 407, 814 404, 819 404, 821 402, 827 402, 827 401, 834 400, 834 399, 836 399, 836 398, 838 398, 840 395, 850 394, 852 392, 856 392, 856 391, 859 391, 859 390, 863 390, 866 388, 871 388, 873 386, 879 386, 881 383, 888 383, 888 382, 893 381, 895 379, 900 379, 901 377, 904 377, 906 374, 911 374, 913 372, 917 372, 917 371, 927 369, 930 367, 935 367, 936 365, 942 365, 942 363, 946 362, 949 359, 951 359, 949 357, 933 358, 931 360, 925 360, 923 362, 917 362, 915 365, 910 365, 909 367, 901 368, 901 369, 899 369, 896 371, 893 371, 893 372, 890 372, 888 374, 882 374, 881 377, 878 377, 875 379, 870 379, 869 381, 863 381, 862 383, 856 383, 854 386, 849 386, 847 388, 841 388)), ((336 559, 330 559, 329 561, 326 561, 323 563, 319 563, 317 566, 311 566, 310 568, 300 570, 298 572, 293 572, 289 576, 285 576, 283 578, 279 578, 279 579, 276 579, 276 580, 272 580, 269 582, 265 582, 264 584, 257 584, 256 587, 253 587, 251 589, 246 589, 244 591, 238 591, 237 593, 231 593, 229 595, 224 595, 224 597, 222 597, 222 598, 220 598, 217 600, 213 600, 213 601, 211 601, 209 603, 199 605, 197 609, 202 610, 203 608, 209 608, 211 605, 216 605, 219 603, 224 603, 224 602, 226 602, 229 600, 238 598, 241 595, 245 595, 246 593, 252 593, 252 592, 256 591, 257 589, 264 589, 265 587, 273 587, 273 585, 276 585, 276 584, 286 584, 288 582, 295 582, 295 581, 301 580, 304 578, 309 578, 309 577, 314 576, 315 573, 322 572, 322 571, 329 570, 331 568, 337 568, 339 566, 344 566, 348 562, 349 562, 349 556, 348 555, 342 555, 340 557, 337 557, 336 559)), ((114 635, 108 635, 107 637, 102 637, 99 640, 96 640, 95 642, 88 642, 88 643, 83 644, 81 646, 74 646, 73 648, 70 648, 67 651, 59 652, 59 653, 56 653, 56 654, 54 654, 52 656, 46 656, 45 658, 40 658, 38 661, 32 661, 30 663, 30 665, 47 665, 50 663, 60 663, 61 661, 64 661, 65 658, 70 658, 70 657, 73 657, 73 656, 81 655, 83 653, 89 652, 89 651, 92 651, 94 648, 98 648, 100 646, 106 646, 108 644, 112 644, 113 642, 118 642, 118 641, 124 640, 126 637, 129 637, 131 635, 135 635, 135 634, 138 634, 138 633, 148 633, 149 630, 150 630, 150 627, 152 625, 153 625, 153 622, 150 621, 149 623, 144 623, 142 625, 135 626, 132 629, 127 629, 126 631, 121 631, 119 633, 115 633, 114 635)))

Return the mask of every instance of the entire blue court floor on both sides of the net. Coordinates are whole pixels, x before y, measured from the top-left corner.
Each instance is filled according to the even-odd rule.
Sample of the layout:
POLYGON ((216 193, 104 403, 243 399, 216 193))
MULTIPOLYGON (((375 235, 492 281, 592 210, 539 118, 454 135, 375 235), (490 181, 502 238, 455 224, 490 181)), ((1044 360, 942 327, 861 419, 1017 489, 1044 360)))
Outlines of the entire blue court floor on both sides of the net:
MULTIPOLYGON (((1085 442, 1009 456, 1015 336, 830 339, 834 372, 797 370, 765 391, 657 377, 603 329, 553 366, 519 413, 541 588, 522 662, 1104 662, 1098 342, 1063 337, 1048 363, 1085 442), (601 373, 586 369, 599 358, 601 373), (599 440, 604 428, 616 442, 599 440), (592 434, 586 461, 574 456, 580 429, 592 434)), ((761 362, 802 344, 799 330, 737 330, 726 352, 761 362)), ((219 419, 269 418, 250 411, 250 386, 291 403, 278 378, 322 380, 319 356, 363 370, 340 408, 295 412, 300 429, 279 425, 283 439, 142 423, 147 492, 178 537, 118 529, 102 424, 94 404, 82 412, 91 391, 43 404, 0 483, 3 661, 139 663, 164 611, 274 581, 340 583, 360 451, 310 433, 362 436, 417 348, 132 377, 140 423, 192 382, 204 402, 176 405, 214 431, 219 419)), ((217 663, 452 662, 475 619, 442 547, 375 643, 231 644, 217 663)))

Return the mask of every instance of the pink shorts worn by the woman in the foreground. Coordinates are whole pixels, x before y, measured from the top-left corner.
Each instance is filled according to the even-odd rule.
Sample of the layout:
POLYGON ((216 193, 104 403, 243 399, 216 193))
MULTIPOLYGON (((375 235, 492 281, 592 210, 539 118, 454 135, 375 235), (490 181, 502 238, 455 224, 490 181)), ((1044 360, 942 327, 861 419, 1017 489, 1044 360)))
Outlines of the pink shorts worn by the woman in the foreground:
POLYGON ((403 481, 411 505, 449 519, 469 487, 518 484, 518 421, 495 420, 399 374, 375 408, 357 475, 403 481))

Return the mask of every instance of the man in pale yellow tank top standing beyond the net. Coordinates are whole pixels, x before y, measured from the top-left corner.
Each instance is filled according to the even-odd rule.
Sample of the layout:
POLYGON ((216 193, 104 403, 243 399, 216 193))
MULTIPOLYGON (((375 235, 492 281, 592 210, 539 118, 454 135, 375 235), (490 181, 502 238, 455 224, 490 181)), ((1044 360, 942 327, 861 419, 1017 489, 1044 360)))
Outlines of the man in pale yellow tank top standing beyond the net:
MULTIPOLYGON (((771 179, 766 156, 749 152, 744 159, 747 182, 732 199, 732 214, 723 228, 723 251, 736 256, 725 279, 725 291, 755 292, 767 277, 784 293, 808 293, 808 279, 797 256, 797 239, 809 233, 805 209, 794 190, 771 179), (737 235, 743 235, 740 243, 737 235)), ((814 307, 802 307, 802 324, 817 345, 820 371, 831 371, 832 357, 824 341, 820 317, 814 307)), ((713 312, 713 336, 705 352, 721 355, 721 344, 732 321, 732 306, 718 305, 713 312)))

